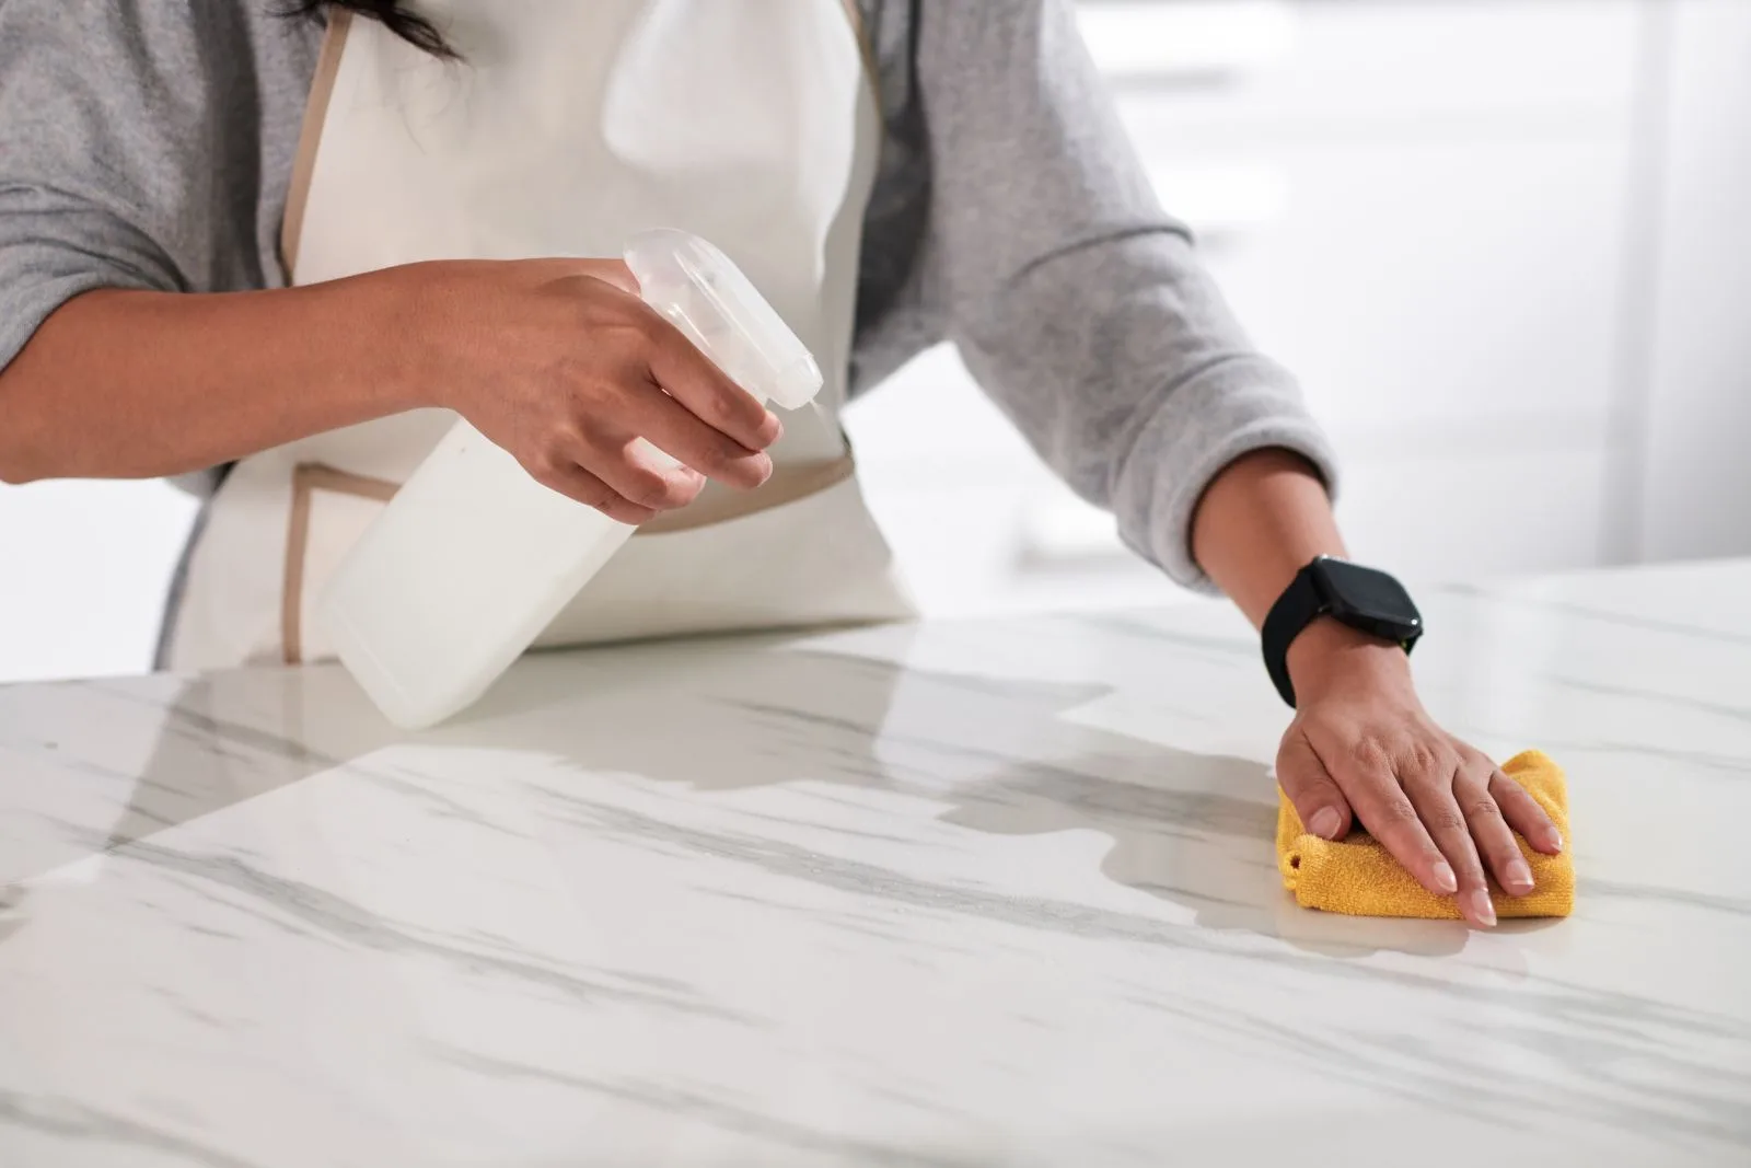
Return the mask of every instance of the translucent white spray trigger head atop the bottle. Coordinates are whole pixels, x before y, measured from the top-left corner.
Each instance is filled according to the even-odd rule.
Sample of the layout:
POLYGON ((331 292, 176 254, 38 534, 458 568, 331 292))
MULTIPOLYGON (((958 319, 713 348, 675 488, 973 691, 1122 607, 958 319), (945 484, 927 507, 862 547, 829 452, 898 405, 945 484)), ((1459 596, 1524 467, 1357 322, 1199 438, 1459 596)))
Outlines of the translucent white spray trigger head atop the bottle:
POLYGON ((821 392, 807 347, 721 250, 660 228, 632 236, 625 261, 644 303, 749 394, 797 410, 821 392))

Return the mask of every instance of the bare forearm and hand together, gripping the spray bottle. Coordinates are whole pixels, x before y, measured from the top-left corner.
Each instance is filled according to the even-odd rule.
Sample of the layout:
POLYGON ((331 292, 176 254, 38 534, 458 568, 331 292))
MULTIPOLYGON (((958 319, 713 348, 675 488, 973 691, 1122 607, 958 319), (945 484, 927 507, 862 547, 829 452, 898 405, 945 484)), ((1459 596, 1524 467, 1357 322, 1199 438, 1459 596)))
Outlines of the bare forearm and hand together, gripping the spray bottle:
POLYGON ((779 436, 606 259, 440 261, 257 292, 95 289, 0 369, 0 480, 21 483, 182 475, 447 406, 629 524, 688 503, 706 476, 760 485, 779 436))

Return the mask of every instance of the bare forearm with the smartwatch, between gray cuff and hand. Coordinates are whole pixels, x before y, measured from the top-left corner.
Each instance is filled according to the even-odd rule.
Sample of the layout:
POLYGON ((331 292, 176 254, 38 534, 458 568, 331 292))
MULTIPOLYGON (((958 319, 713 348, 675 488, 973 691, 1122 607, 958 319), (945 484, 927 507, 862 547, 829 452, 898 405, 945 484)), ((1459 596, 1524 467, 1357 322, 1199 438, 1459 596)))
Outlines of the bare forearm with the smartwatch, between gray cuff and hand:
MULTIPOLYGON (((1326 485, 1287 450, 1259 450, 1231 462, 1192 515, 1192 555, 1254 629, 1313 557, 1343 553, 1326 485)), ((1334 620, 1313 622, 1289 648, 1297 693, 1348 667, 1401 672, 1406 664, 1397 646, 1334 620)))

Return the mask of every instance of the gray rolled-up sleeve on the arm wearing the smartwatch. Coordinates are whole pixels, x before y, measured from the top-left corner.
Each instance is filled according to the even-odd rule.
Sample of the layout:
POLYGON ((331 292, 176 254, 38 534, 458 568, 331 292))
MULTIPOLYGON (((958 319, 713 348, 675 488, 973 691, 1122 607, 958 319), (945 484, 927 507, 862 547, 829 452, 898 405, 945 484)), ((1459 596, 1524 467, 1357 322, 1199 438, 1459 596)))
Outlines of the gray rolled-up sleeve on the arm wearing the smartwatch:
POLYGON ((1294 380, 1168 219, 1063 0, 925 0, 923 282, 968 369, 1128 545, 1194 588, 1191 515, 1248 450, 1334 483, 1294 380))

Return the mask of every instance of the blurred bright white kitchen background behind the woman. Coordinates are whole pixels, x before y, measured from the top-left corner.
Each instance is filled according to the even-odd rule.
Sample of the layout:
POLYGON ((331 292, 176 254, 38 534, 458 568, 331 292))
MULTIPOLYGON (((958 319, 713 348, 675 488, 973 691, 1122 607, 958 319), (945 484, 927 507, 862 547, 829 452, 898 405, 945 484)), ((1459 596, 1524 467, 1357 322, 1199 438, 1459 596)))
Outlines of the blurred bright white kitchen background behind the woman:
MULTIPOLYGON (((1168 210, 1417 578, 1751 553, 1751 0, 1084 0, 1168 210)), ((1166 602, 935 350, 853 408, 932 613, 1166 602)), ((147 667, 194 503, 0 487, 0 679, 147 667)))

